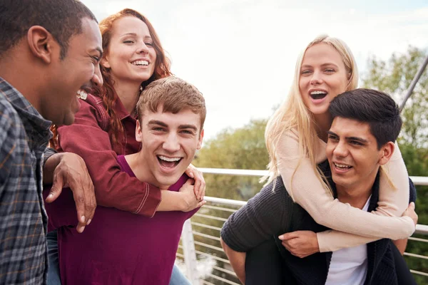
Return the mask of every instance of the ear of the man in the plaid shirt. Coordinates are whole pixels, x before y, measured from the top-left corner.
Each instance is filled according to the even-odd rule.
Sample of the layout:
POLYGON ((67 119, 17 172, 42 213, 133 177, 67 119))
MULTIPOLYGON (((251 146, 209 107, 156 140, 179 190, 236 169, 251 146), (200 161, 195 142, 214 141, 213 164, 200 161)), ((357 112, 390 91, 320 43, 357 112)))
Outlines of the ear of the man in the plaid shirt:
POLYGON ((42 26, 31 26, 27 32, 27 41, 31 53, 47 64, 51 63, 54 57, 54 49, 60 48, 54 36, 42 26))

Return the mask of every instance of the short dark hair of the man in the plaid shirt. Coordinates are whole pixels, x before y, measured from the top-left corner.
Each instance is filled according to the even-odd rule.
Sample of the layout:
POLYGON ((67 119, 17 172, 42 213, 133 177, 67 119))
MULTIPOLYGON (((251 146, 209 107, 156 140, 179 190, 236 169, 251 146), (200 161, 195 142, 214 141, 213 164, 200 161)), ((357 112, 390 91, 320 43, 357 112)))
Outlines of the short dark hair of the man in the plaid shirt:
POLYGON ((96 21, 78 0, 0 0, 0 58, 26 36, 31 26, 43 26, 66 57, 71 36, 82 33, 82 19, 96 21))

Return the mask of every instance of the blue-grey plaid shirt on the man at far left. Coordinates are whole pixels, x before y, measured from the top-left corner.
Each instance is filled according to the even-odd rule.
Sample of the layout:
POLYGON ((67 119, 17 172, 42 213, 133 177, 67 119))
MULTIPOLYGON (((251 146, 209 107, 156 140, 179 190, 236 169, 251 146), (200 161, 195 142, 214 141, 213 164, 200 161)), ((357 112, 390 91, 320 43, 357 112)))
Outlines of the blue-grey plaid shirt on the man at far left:
POLYGON ((0 78, 0 284, 46 284, 41 164, 50 125, 0 78))

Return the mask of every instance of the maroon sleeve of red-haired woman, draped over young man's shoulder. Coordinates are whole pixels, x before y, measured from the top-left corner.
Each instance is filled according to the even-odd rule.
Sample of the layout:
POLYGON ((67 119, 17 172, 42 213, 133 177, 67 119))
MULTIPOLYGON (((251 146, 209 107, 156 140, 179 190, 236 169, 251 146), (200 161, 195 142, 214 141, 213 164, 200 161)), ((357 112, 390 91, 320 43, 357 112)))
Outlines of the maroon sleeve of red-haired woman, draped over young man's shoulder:
POLYGON ((161 202, 161 191, 121 172, 108 133, 98 123, 99 117, 93 105, 81 100, 73 125, 58 128, 61 149, 85 160, 99 205, 153 217, 161 202))

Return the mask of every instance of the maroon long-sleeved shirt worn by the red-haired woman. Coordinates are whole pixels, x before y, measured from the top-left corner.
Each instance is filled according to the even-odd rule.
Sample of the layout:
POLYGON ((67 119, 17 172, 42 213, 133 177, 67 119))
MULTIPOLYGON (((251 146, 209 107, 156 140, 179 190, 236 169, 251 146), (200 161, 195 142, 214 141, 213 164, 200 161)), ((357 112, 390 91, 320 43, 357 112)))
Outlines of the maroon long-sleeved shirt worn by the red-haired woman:
POLYGON ((88 94, 80 103, 73 125, 58 128, 58 151, 73 152, 85 160, 98 205, 152 217, 161 202, 161 191, 121 172, 116 160, 117 155, 128 155, 140 149, 135 135, 136 118, 128 114, 121 100, 117 100, 114 110, 123 125, 124 143, 123 147, 112 147, 108 137, 110 116, 101 98, 88 94))

